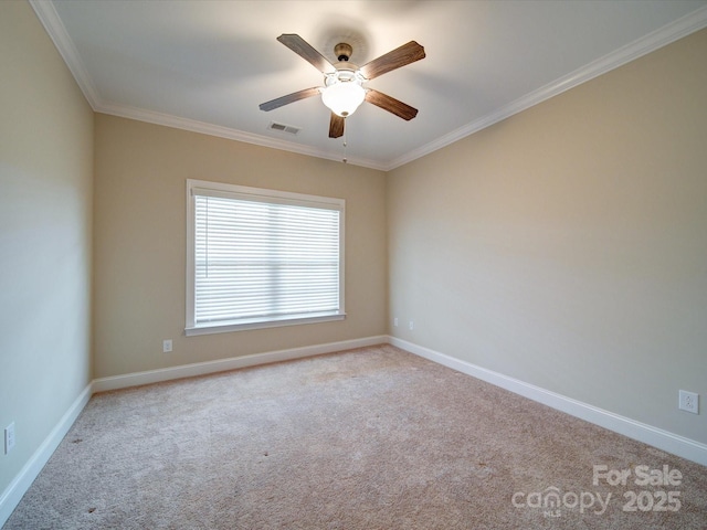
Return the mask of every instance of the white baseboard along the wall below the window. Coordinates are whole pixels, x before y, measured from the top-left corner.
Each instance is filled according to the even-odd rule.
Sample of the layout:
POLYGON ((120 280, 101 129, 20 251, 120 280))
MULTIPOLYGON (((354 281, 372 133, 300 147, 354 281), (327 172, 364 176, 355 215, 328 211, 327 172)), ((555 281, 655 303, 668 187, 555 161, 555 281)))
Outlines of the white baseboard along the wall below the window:
POLYGON ((289 361, 305 357, 320 356, 336 351, 363 348, 367 346, 388 343, 388 336, 367 337, 363 339, 344 340, 329 342, 326 344, 305 346, 287 350, 270 351, 266 353, 254 353, 251 356, 219 359, 217 361, 197 362, 193 364, 182 364, 180 367, 165 368, 160 370, 149 370, 146 372, 128 373, 110 378, 99 378, 93 381, 94 392, 106 392, 108 390, 126 389, 140 384, 159 383, 175 379, 192 378, 194 375, 205 375, 209 373, 225 372, 239 368, 268 364, 271 362, 289 361))

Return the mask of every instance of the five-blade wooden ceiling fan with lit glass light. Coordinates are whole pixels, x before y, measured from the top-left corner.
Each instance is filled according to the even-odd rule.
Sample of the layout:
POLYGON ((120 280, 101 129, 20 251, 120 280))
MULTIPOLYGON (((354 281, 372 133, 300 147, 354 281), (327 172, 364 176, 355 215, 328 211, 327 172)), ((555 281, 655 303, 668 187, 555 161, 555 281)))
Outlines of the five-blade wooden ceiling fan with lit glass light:
POLYGON ((305 88, 304 91, 263 103, 260 105, 261 110, 273 110, 299 99, 321 95, 324 104, 331 109, 329 138, 339 138, 344 135, 345 118, 354 114, 363 100, 372 103, 377 107, 405 120, 410 120, 418 115, 416 108, 373 88, 363 86, 363 83, 379 75, 424 59, 424 47, 415 41, 410 41, 359 67, 349 62, 349 57, 354 52, 350 44, 342 42, 334 46, 334 53, 338 62, 331 64, 297 34, 286 33, 279 35, 277 40, 319 70, 324 74, 324 86, 305 88))

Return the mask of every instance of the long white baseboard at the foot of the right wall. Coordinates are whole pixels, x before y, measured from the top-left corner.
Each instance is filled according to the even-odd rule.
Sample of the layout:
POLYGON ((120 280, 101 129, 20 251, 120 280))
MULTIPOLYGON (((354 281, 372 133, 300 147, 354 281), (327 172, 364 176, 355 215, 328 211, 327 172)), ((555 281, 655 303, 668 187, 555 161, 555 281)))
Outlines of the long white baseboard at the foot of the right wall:
POLYGON ((462 361, 439 351, 408 342, 395 337, 389 337, 389 343, 405 351, 423 357, 436 363, 452 368, 467 375, 481 379, 502 389, 528 398, 544 405, 551 406, 572 416, 608 428, 658 449, 672 453, 682 458, 707 466, 707 445, 662 428, 636 422, 630 417, 589 405, 566 395, 541 389, 503 373, 487 370, 471 362, 462 361))

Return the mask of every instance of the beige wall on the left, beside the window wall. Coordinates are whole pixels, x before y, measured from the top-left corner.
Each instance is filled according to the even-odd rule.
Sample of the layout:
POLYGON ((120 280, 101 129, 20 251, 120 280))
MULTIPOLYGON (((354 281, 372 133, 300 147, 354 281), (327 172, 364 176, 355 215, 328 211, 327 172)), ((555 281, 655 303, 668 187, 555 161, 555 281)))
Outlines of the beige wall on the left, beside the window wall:
POLYGON ((0 495, 91 382, 93 113, 27 2, 0 1, 0 495))

